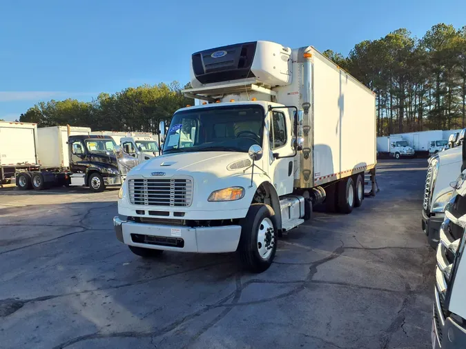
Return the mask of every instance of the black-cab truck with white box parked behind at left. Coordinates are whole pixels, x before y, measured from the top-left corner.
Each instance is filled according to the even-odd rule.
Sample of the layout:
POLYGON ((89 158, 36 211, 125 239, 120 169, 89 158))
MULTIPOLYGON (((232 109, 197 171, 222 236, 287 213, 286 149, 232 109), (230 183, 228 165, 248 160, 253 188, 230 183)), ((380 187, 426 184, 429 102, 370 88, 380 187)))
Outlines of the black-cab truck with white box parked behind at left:
POLYGON ((121 186, 137 159, 124 154, 111 137, 89 133, 89 128, 70 126, 38 128, 39 167, 18 172, 16 185, 23 190, 88 186, 94 192, 121 186))

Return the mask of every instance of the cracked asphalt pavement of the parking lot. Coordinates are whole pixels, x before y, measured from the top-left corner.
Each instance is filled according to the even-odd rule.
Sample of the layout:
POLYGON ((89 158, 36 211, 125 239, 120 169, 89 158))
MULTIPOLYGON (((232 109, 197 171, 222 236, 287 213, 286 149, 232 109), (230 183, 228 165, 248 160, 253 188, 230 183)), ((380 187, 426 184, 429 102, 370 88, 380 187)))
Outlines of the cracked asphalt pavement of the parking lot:
POLYGON ((0 190, 0 347, 429 348, 426 168, 380 161, 376 197, 316 213, 259 275, 234 254, 133 255, 117 190, 0 190))

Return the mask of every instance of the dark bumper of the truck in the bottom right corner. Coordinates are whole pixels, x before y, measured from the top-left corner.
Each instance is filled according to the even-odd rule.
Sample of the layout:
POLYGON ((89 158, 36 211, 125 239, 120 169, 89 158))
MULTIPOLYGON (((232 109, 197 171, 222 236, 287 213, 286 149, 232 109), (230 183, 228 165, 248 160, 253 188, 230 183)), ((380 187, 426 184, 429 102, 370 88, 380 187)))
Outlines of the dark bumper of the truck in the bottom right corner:
POLYGON ((431 340, 434 349, 466 348, 466 328, 460 326, 451 317, 445 319, 437 290, 435 290, 431 340))

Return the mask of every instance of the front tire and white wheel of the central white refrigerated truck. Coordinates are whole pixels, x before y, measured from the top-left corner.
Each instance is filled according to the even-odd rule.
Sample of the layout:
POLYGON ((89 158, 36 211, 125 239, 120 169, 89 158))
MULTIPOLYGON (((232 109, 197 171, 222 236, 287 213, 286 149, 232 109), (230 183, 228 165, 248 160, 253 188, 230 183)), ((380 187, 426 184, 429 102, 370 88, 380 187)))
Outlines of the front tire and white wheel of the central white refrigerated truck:
POLYGON ((253 203, 241 227, 238 252, 242 266, 251 272, 269 269, 278 241, 275 212, 269 205, 253 203))

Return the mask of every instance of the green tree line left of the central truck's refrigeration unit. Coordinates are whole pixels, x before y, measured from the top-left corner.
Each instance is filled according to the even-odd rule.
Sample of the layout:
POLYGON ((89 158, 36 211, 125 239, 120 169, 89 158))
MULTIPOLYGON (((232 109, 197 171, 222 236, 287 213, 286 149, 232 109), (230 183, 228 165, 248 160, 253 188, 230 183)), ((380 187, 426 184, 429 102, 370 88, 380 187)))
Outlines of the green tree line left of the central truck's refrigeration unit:
POLYGON ((34 122, 39 127, 69 124, 92 130, 155 132, 159 118, 169 119, 175 110, 194 104, 181 90, 182 86, 173 81, 168 85, 126 88, 114 94, 102 92, 90 102, 52 99, 35 104, 21 114, 19 121, 34 122))

